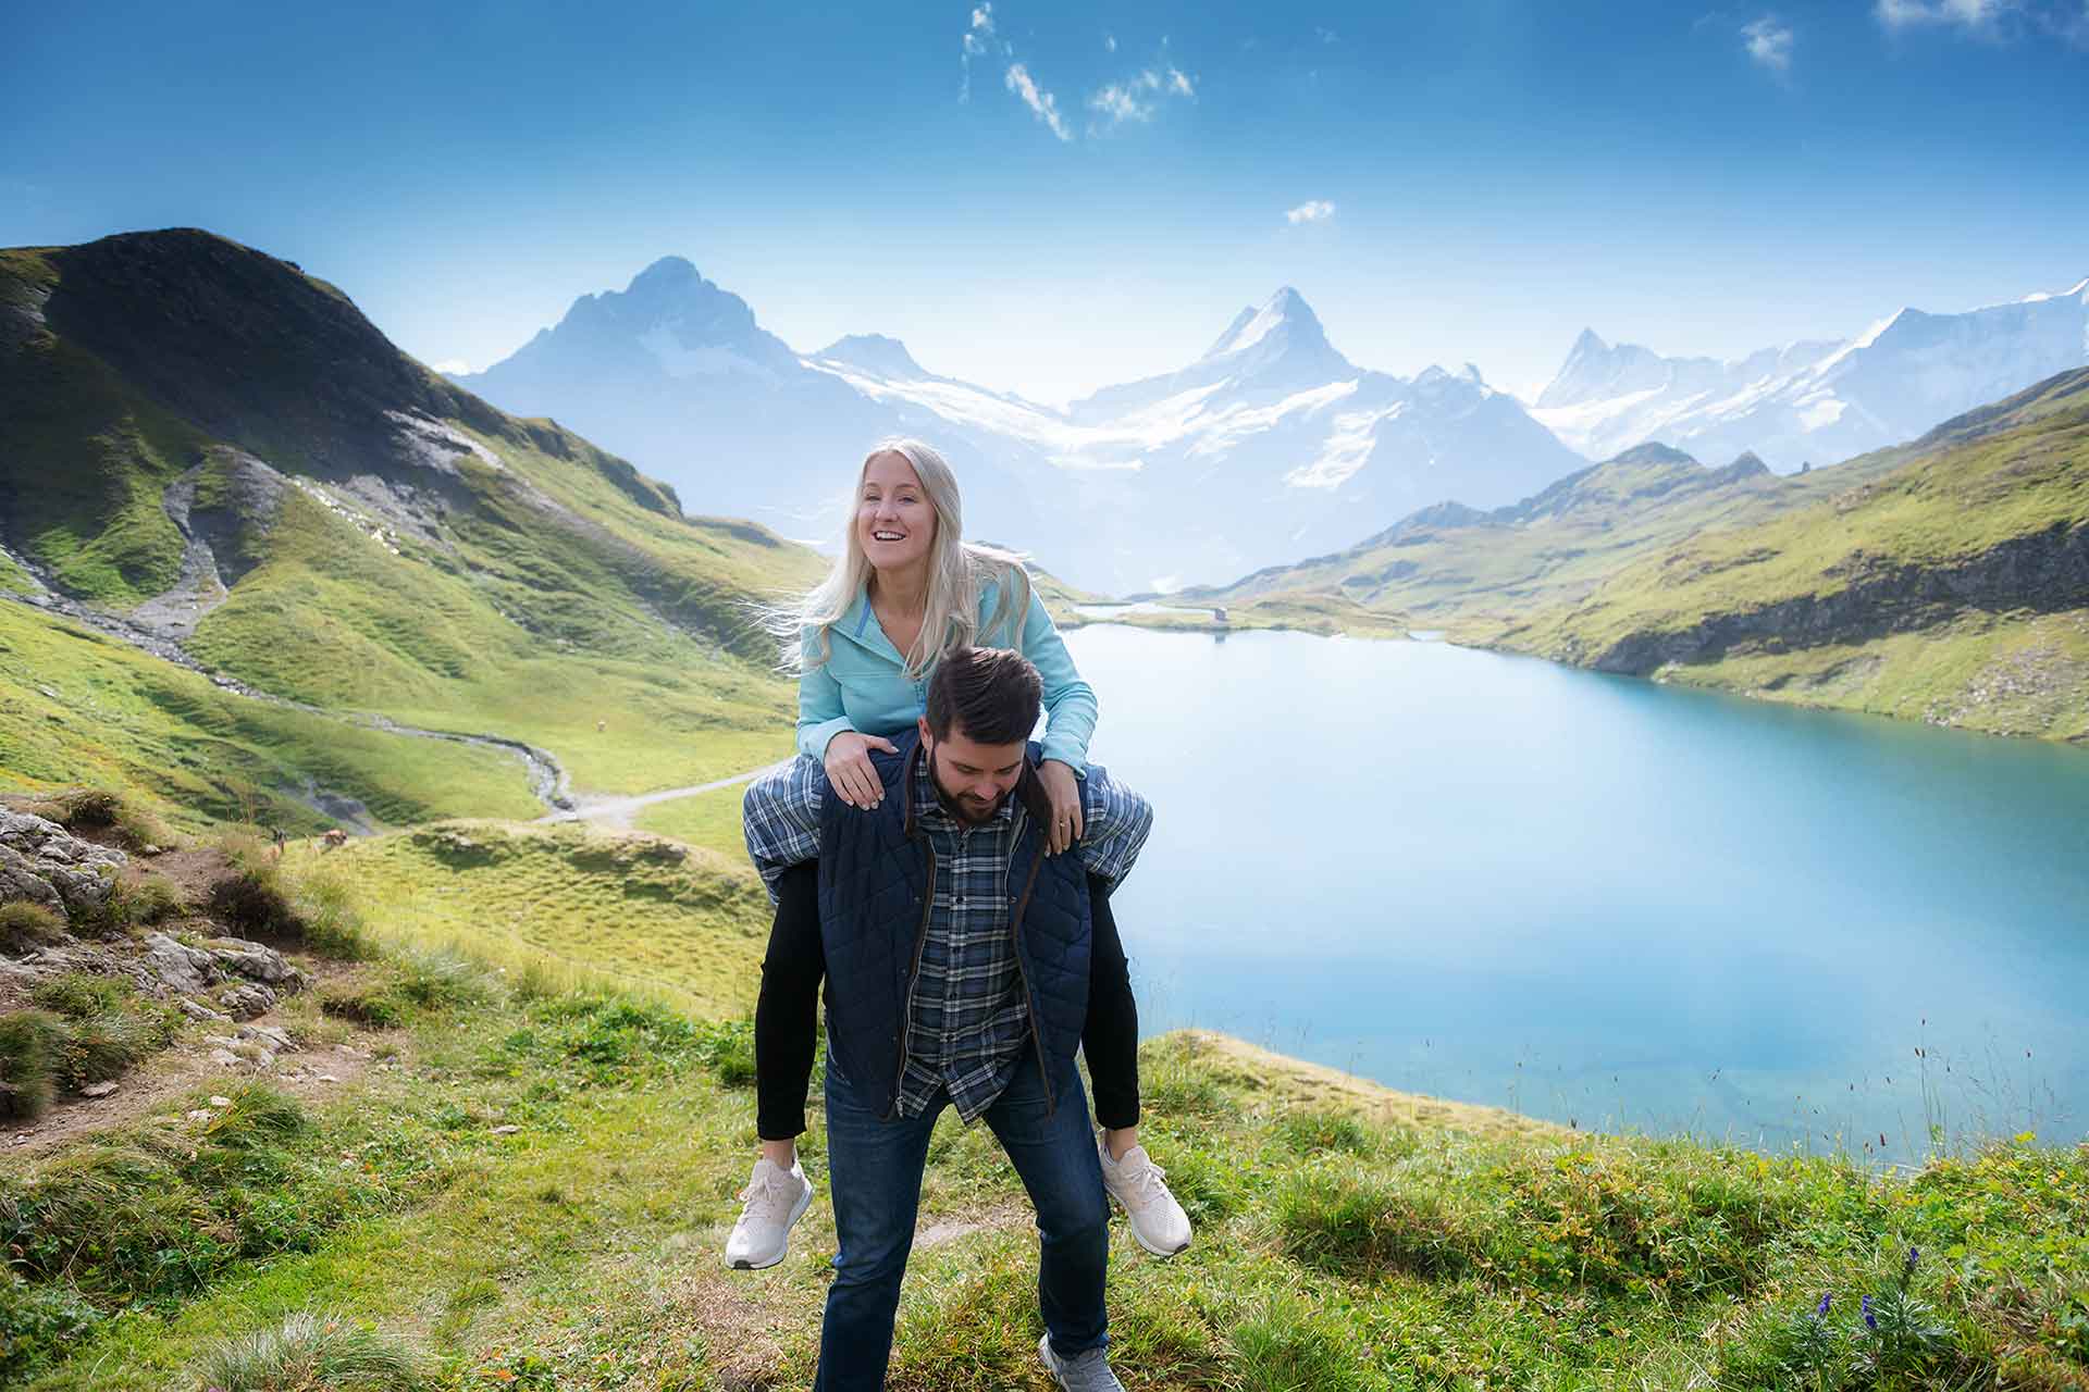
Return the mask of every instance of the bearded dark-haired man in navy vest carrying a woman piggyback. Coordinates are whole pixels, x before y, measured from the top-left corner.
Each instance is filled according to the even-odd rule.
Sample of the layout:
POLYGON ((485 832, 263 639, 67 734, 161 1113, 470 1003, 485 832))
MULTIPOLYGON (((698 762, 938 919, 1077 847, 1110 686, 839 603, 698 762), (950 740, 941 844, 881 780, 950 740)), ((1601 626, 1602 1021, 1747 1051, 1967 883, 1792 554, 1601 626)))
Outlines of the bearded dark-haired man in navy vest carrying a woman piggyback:
MULTIPOLYGON (((986 1121, 1038 1215, 1038 1357, 1070 1392, 1109 1371, 1101 1162, 1074 1071, 1088 995, 1090 870, 1116 881, 1151 814, 1101 768, 1082 785, 1080 856, 1044 856, 1040 680, 1019 653, 957 649, 919 728, 875 753, 886 797, 850 808, 817 766, 804 822, 750 822, 756 864, 819 856, 827 968, 827 1171, 840 1252, 817 1392, 882 1388, 944 1106, 986 1121), (1116 872, 1111 872, 1116 868, 1116 872)), ((794 1215, 792 1215, 794 1217, 794 1215)))

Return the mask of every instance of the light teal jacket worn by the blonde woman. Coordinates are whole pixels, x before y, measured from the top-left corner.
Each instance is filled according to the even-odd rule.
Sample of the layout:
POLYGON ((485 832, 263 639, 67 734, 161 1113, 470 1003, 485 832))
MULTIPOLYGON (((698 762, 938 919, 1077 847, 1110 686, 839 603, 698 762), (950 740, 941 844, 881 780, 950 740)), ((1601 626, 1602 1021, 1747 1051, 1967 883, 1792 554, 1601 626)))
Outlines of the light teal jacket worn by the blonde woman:
MULTIPOLYGON (((999 603, 999 586, 982 584, 978 645, 1013 647, 1036 666, 1044 680, 1044 758, 1086 776, 1095 691, 1074 670, 1074 657, 1034 589, 1028 614, 1011 614, 999 630, 988 632, 999 603)), ((842 730, 896 741, 900 733, 915 728, 928 707, 928 678, 907 676, 907 659, 879 628, 865 591, 859 589, 848 614, 827 626, 827 662, 806 666, 798 678, 798 751, 819 760, 827 755, 827 741, 842 730)), ((819 655, 817 630, 804 632, 802 653, 806 664, 819 655)))

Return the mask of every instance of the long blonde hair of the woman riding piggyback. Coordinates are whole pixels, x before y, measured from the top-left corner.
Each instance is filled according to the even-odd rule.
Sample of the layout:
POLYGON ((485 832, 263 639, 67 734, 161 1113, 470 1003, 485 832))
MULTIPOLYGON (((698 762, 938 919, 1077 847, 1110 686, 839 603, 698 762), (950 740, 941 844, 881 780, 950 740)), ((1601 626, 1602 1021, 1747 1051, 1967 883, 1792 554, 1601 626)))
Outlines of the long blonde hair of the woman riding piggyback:
POLYGON ((1001 647, 1019 647, 1022 618, 1030 614, 1030 574, 1024 570, 1024 559, 1013 551, 965 541, 965 505, 957 490, 957 476, 950 474, 950 465, 932 445, 879 440, 856 467, 848 518, 842 522, 842 553, 834 559, 827 578, 804 597, 777 605, 767 616, 769 632, 783 649, 785 670, 817 668, 834 655, 827 628, 848 614, 848 607, 856 603, 856 593, 871 580, 871 559, 863 553, 863 541, 856 536, 856 507, 863 503, 863 476, 877 455, 907 459, 915 478, 921 480, 921 493, 928 495, 930 507, 936 509, 936 541, 928 555, 928 603, 921 611, 921 637, 915 639, 911 653, 902 653, 907 676, 925 676, 936 659, 953 647, 990 645, 996 637, 1001 647), (988 584, 999 589, 999 599, 982 630, 980 593, 988 584))

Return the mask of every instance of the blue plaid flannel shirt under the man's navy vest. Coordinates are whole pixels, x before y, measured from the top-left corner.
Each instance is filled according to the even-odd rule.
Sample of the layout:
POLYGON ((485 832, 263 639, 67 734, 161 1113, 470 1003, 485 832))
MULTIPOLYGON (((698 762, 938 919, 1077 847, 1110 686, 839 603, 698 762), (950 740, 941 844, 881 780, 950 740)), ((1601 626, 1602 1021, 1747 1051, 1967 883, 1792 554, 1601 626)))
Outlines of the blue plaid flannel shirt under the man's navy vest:
MULTIPOLYGON (((936 895, 930 906, 921 966, 907 1000, 907 1066, 898 1112, 919 1117, 938 1089, 963 1121, 976 1121, 1003 1094, 1030 1043, 1030 1006, 1009 931, 1009 856, 1028 824, 1019 797, 1007 797, 992 820, 967 826, 950 816, 928 776, 928 755, 915 749, 917 824, 936 849, 936 895)), ((775 877, 819 854, 819 806, 825 770, 798 758, 758 778, 746 797, 748 854, 775 893, 775 877)), ((1093 874, 1122 881, 1153 826, 1139 793, 1109 781, 1099 766, 1082 778, 1078 854, 1093 874)))

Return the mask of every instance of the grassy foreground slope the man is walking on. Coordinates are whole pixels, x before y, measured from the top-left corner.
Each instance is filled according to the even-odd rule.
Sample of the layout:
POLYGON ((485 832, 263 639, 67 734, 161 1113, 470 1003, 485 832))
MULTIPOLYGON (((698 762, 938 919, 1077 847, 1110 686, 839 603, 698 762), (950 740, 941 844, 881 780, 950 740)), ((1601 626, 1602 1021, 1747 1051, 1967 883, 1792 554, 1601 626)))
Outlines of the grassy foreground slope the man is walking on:
MULTIPOLYGON (((389 918, 397 895, 447 889, 457 920, 522 897, 585 918, 650 856, 533 843, 443 881, 420 862, 470 851, 424 835, 460 831, 537 835, 295 860, 311 889, 292 897, 403 941, 420 929, 389 918)), ((673 874, 717 893, 687 904, 685 947, 731 950, 737 881, 700 858, 673 874)), ((303 1081, 184 1089, 142 1069, 127 1119, 13 1158, 13 1371, 46 1392, 355 1386, 297 1384, 303 1348, 422 1392, 806 1386, 834 1250, 819 1110, 823 1192, 790 1261, 729 1273, 746 1023, 503 966, 399 947, 313 964, 324 985, 278 1016, 303 1081), (345 1077, 313 1083, 328 1066, 345 1077)), ((1594 1137, 1199 1033, 1149 1041, 1143 1075, 1147 1139, 1199 1235, 1159 1263, 1113 1221, 1134 1388, 2089 1386, 2089 1148, 1876 1173, 1594 1137)), ((1034 1261, 990 1135, 946 1119, 890 1386, 1042 1390, 1034 1261)))

